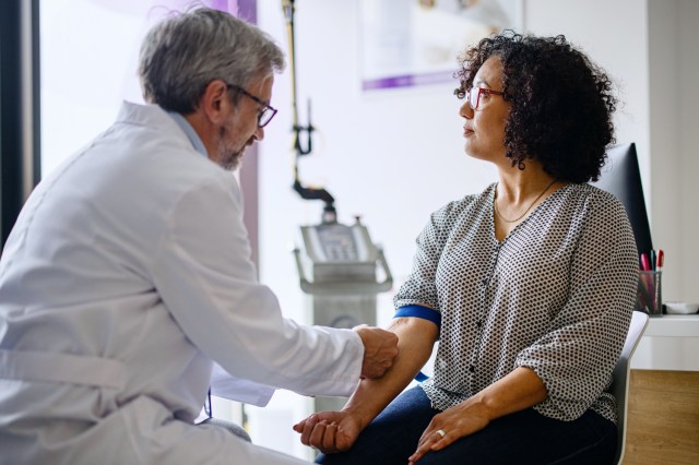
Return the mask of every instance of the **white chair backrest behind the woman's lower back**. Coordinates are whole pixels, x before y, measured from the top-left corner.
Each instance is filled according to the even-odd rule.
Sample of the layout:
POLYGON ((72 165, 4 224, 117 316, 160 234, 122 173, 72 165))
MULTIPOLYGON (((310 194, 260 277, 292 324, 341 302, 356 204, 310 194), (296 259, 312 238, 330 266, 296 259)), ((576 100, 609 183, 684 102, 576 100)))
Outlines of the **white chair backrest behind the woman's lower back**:
POLYGON ((627 397, 629 394, 629 370, 630 361, 638 343, 641 341, 645 326, 648 325, 648 314, 635 311, 631 315, 631 324, 629 325, 629 332, 626 336, 626 343, 624 343, 624 349, 619 356, 614 368, 614 374, 612 374, 612 388, 611 392, 616 397, 618 420, 617 420, 617 444, 616 444, 616 457, 614 463, 620 464, 624 458, 624 449, 626 446, 626 414, 627 414, 627 397))

